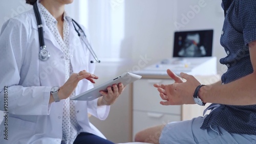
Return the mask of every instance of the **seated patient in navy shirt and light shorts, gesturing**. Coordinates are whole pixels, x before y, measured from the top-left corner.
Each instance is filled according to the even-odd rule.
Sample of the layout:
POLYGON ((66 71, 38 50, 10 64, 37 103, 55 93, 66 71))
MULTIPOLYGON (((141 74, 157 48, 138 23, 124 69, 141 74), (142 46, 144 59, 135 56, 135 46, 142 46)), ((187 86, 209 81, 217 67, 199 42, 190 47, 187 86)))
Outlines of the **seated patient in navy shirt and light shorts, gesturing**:
MULTIPOLYGON (((221 44, 228 69, 221 81, 202 85, 193 76, 176 76, 174 84, 154 84, 161 105, 213 103, 208 115, 190 121, 145 129, 135 141, 150 143, 255 143, 256 142, 256 1, 223 0, 225 11, 221 44), (229 9, 227 11, 227 9, 229 9), (186 82, 183 82, 183 79, 186 82), (192 97, 193 96, 193 97, 192 97)), ((166 107, 167 108, 167 107, 166 107)))

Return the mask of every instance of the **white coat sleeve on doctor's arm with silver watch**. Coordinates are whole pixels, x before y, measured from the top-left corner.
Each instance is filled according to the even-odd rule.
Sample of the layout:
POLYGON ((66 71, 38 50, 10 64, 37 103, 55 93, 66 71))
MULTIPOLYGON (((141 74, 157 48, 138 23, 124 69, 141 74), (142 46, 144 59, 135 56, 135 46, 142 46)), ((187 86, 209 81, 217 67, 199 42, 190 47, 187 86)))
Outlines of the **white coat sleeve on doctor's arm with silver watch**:
MULTIPOLYGON (((28 46, 29 30, 23 22, 10 19, 4 23, 0 35, 0 110, 8 103, 8 112, 12 114, 49 113, 50 87, 28 86, 20 77, 28 46), (8 88, 7 88, 8 87, 8 88), (34 96, 36 95, 36 98, 34 96)), ((32 77, 32 76, 31 76, 32 77)))

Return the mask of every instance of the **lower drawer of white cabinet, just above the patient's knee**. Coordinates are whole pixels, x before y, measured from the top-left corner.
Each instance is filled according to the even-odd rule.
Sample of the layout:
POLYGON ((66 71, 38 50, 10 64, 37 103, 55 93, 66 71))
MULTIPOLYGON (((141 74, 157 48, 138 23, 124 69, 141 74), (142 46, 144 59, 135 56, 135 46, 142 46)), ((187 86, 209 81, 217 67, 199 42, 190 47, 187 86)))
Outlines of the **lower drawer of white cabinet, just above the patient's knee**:
POLYGON ((137 132, 156 125, 181 121, 180 115, 133 111, 133 140, 137 132))

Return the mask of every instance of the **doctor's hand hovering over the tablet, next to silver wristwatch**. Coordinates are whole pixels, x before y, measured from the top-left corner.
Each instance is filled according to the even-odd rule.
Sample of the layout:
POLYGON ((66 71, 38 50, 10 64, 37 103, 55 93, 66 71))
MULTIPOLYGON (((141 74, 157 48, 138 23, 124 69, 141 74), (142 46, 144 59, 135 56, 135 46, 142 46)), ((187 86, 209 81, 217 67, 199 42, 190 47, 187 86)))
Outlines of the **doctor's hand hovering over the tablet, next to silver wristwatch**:
MULTIPOLYGON (((87 79, 90 82, 95 83, 94 79, 98 79, 98 77, 88 73, 86 70, 82 70, 79 73, 72 74, 68 79, 68 81, 59 88, 59 91, 58 91, 59 99, 62 100, 62 99, 69 98, 70 95, 75 90, 78 82, 83 79, 87 79)), ((54 99, 51 94, 49 103, 52 103, 52 102, 54 102, 54 99)))

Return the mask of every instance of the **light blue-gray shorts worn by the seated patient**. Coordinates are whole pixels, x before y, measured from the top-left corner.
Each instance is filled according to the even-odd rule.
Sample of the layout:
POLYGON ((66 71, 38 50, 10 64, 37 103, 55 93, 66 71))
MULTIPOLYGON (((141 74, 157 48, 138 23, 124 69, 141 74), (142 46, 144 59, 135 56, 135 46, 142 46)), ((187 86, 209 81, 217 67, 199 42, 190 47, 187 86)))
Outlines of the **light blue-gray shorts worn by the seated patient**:
POLYGON ((221 127, 211 125, 200 129, 204 117, 193 118, 190 121, 172 122, 167 124, 161 133, 162 143, 256 143, 256 135, 228 133, 221 127))

